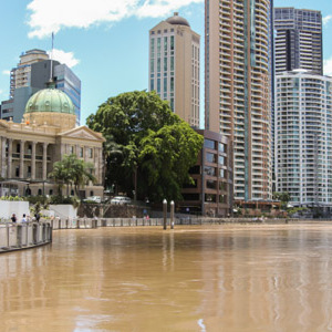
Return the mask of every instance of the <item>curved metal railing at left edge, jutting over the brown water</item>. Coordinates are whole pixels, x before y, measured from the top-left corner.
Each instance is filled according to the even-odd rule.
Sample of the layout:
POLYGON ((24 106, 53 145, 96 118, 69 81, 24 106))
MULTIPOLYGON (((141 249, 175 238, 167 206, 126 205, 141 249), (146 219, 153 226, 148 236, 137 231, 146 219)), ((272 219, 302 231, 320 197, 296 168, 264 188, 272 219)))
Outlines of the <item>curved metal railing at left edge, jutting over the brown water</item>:
POLYGON ((0 252, 37 247, 52 241, 50 222, 0 225, 0 252))

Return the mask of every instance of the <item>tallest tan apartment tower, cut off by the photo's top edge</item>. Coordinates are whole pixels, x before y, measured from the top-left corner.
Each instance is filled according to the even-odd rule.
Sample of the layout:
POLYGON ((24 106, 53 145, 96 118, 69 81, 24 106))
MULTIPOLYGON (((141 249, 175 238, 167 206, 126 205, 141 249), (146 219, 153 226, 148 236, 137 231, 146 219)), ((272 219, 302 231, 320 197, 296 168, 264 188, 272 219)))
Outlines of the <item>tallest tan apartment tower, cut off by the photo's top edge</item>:
POLYGON ((205 6, 206 128, 232 141, 235 200, 271 199, 272 1, 205 6))

